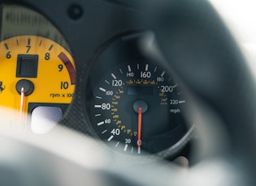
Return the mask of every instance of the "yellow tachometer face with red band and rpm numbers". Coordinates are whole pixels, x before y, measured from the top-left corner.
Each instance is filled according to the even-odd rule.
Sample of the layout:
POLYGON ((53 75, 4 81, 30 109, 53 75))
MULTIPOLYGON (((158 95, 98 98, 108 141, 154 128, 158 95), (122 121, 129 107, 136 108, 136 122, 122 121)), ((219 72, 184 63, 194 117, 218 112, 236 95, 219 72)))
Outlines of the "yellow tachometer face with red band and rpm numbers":
POLYGON ((72 102, 76 70, 66 49, 41 36, 16 36, 0 43, 0 104, 20 112, 72 102))

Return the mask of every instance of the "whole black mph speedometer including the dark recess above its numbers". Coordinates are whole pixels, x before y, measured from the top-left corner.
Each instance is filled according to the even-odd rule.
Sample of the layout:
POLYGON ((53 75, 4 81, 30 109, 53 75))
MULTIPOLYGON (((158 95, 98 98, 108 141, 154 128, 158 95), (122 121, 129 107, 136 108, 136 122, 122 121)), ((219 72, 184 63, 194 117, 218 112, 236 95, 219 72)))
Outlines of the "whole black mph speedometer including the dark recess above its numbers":
POLYGON ((87 111, 94 133, 112 148, 155 154, 188 132, 183 115, 187 100, 160 63, 134 50, 129 53, 134 40, 137 36, 116 42, 93 64, 87 111))

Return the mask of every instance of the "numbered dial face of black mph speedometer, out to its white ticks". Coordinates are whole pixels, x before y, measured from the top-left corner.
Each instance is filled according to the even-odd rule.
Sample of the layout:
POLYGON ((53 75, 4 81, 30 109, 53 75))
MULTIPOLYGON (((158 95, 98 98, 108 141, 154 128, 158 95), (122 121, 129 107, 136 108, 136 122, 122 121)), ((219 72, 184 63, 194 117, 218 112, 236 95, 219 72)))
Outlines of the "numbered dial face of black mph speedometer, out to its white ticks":
MULTIPOLYGON (((182 91, 166 72, 147 62, 111 70, 93 90, 93 129, 124 152, 158 152, 184 123, 182 91)), ((180 133, 180 132, 178 132, 180 133)))

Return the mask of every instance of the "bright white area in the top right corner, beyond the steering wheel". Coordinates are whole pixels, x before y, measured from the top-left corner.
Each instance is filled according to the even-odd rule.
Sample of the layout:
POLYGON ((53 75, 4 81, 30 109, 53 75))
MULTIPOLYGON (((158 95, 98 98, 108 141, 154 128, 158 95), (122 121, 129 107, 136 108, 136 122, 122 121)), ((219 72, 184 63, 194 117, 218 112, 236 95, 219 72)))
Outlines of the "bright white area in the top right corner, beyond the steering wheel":
POLYGON ((210 2, 235 37, 256 79, 256 2, 253 0, 210 0, 210 2))

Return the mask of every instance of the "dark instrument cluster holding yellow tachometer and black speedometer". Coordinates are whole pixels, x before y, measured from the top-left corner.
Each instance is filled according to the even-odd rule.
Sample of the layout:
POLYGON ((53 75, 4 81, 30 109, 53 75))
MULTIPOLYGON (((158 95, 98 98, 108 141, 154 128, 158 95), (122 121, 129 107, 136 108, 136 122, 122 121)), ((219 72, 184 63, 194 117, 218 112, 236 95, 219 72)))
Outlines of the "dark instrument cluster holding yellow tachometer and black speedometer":
POLYGON ((46 133, 44 117, 128 155, 168 158, 188 144, 187 92, 136 9, 102 2, 93 17, 76 4, 59 14, 29 5, 1 4, 0 40, 0 102, 26 129, 46 133))

